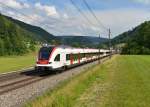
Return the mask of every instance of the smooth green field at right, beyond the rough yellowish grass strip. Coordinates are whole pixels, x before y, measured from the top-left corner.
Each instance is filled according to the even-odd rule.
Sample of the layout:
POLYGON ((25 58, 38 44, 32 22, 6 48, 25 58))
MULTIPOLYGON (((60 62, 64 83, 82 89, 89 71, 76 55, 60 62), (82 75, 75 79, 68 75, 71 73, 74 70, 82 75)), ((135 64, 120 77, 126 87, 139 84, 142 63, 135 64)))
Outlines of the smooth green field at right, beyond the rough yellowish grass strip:
POLYGON ((150 56, 119 57, 104 107, 150 106, 150 56))

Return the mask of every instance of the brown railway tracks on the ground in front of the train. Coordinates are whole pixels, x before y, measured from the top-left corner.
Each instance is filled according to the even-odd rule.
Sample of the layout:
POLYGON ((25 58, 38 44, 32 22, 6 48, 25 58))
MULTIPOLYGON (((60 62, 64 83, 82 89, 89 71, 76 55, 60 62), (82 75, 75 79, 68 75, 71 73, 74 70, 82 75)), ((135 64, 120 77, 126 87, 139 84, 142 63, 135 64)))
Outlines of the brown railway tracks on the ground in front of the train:
MULTIPOLYGON (((103 61, 105 61, 105 58, 103 58, 103 61)), ((34 70, 2 75, 0 76, 0 95, 44 80, 51 76, 52 74, 50 73, 47 74, 46 72, 35 72, 34 70)))

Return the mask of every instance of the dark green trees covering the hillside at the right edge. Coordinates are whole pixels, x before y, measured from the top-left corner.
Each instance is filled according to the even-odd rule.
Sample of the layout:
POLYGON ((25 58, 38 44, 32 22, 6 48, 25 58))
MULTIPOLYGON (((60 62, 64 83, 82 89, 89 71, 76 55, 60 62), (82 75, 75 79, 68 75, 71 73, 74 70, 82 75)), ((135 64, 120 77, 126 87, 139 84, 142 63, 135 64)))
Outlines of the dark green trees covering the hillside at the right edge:
POLYGON ((113 43, 117 44, 118 41, 126 44, 122 54, 150 54, 150 21, 121 34, 113 40, 113 43))

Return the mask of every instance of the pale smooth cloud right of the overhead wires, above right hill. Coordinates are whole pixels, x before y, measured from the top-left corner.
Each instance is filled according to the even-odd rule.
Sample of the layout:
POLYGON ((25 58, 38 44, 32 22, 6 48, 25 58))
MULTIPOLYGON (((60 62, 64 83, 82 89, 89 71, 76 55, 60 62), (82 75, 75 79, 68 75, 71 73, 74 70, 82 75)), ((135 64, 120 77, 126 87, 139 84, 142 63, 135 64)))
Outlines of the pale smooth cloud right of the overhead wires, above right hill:
POLYGON ((97 14, 101 21, 111 28, 114 36, 150 20, 149 11, 134 8, 100 11, 97 14))

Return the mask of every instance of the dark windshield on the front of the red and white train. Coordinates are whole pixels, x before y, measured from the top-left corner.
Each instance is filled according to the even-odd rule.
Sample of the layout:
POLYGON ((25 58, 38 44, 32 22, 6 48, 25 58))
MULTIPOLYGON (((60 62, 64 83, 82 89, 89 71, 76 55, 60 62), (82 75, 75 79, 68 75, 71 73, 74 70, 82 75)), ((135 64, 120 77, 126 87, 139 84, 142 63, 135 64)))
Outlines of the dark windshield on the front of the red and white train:
POLYGON ((43 47, 39 52, 39 60, 48 60, 52 53, 53 47, 43 47))

